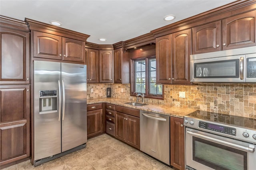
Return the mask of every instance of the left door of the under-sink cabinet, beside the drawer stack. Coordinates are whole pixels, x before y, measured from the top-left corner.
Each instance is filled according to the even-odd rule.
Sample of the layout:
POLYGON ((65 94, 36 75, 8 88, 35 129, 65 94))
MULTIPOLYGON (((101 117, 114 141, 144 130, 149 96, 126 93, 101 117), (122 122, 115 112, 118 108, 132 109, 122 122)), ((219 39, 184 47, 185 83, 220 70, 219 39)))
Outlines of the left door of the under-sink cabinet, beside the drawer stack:
POLYGON ((126 114, 116 112, 116 138, 126 141, 126 114))

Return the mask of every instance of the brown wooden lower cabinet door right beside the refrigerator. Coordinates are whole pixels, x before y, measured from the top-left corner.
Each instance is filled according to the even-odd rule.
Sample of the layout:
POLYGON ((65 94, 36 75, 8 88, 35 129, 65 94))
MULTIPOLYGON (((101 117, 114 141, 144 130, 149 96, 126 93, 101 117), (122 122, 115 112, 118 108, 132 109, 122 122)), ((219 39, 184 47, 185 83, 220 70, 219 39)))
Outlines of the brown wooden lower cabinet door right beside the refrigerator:
POLYGON ((102 132, 102 109, 87 111, 87 137, 102 132))

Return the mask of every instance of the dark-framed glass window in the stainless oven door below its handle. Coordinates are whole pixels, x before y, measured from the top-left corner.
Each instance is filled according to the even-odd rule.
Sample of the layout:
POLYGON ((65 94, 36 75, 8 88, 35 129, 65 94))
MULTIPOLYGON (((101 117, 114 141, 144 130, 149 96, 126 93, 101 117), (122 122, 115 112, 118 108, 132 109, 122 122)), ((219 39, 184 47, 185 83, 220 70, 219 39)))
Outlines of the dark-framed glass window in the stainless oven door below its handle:
POLYGON ((193 137, 193 160, 216 170, 247 170, 247 152, 193 137))

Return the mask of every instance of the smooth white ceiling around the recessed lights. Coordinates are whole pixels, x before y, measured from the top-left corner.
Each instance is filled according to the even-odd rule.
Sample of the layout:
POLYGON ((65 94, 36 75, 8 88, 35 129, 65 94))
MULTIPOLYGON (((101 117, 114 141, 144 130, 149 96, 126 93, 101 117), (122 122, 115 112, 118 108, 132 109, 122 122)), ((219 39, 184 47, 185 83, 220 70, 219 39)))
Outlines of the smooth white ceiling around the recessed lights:
POLYGON ((0 0, 0 15, 44 23, 60 21, 63 28, 90 35, 90 43, 114 44, 234 1, 0 0), (169 14, 176 19, 164 21, 169 14))

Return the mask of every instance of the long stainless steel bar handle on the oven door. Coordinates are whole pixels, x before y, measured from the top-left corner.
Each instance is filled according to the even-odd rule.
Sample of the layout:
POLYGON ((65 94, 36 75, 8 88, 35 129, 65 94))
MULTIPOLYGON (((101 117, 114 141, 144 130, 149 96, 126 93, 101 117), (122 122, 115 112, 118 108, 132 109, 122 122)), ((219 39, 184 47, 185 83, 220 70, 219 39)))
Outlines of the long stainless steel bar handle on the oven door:
POLYGON ((222 141, 220 139, 215 139, 215 138, 208 137, 208 136, 205 136, 205 135, 201 135, 199 133, 194 133, 194 132, 191 132, 191 131, 187 131, 187 133, 190 134, 190 135, 193 135, 195 137, 200 137, 202 139, 206 139, 206 140, 209 140, 209 141, 214 141, 216 143, 227 145, 229 147, 235 147, 237 149, 244 150, 246 152, 252 152, 253 153, 254 150, 255 150, 254 145, 249 145, 249 147, 244 147, 244 146, 241 146, 241 145, 237 145, 237 144, 230 143, 230 142, 227 142, 227 141, 222 141))

